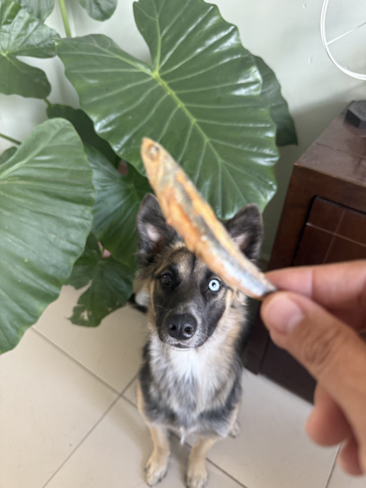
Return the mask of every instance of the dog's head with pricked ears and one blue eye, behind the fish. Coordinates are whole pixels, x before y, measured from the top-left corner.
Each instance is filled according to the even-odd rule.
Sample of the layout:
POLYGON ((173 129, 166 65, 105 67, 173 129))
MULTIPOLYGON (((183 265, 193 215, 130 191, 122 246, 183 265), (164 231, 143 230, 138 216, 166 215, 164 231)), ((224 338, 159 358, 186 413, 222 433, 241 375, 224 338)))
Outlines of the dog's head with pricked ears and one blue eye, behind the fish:
MULTIPOLYGON (((242 252, 255 261, 263 239, 257 205, 247 205, 223 224, 242 252)), ((137 230, 138 258, 142 278, 149 284, 153 327, 171 346, 201 346, 213 334, 228 306, 230 288, 187 249, 177 232, 166 224, 151 194, 142 201, 137 230)))

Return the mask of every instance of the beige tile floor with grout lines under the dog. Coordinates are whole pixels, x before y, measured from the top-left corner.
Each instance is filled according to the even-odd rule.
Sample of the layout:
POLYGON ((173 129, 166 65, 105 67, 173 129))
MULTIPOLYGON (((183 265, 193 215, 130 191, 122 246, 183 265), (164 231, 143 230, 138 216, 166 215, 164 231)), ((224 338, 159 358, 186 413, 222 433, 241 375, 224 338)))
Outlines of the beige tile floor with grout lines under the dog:
MULTIPOLYGON (((145 316, 126 306, 95 329, 66 319, 80 292, 64 287, 13 351, 0 356, 0 488, 136 488, 151 441, 135 406, 145 316)), ((208 456, 208 488, 366 488, 311 444, 310 406, 243 374, 241 436, 208 456)), ((184 487, 189 452, 172 437, 161 488, 184 487)))

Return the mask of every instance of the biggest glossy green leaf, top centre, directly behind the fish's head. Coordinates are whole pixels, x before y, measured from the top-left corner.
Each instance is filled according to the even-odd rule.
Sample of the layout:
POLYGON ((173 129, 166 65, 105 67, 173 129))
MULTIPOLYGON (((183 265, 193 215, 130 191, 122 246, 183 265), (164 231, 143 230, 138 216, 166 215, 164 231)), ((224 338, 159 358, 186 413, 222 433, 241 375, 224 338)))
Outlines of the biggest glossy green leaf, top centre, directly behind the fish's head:
POLYGON ((142 136, 161 142, 221 218, 261 209, 276 185, 275 126, 238 29, 203 0, 140 0, 151 65, 101 35, 57 41, 97 133, 141 173, 142 136))

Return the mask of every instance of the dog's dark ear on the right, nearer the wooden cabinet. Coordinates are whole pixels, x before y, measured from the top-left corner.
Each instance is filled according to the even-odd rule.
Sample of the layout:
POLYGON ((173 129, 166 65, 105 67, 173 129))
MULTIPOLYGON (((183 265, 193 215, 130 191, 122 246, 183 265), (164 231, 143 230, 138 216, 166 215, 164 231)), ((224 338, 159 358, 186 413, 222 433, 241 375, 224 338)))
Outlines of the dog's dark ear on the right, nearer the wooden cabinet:
POLYGON ((245 256, 256 261, 263 241, 263 220, 258 206, 255 203, 247 205, 223 224, 245 256))

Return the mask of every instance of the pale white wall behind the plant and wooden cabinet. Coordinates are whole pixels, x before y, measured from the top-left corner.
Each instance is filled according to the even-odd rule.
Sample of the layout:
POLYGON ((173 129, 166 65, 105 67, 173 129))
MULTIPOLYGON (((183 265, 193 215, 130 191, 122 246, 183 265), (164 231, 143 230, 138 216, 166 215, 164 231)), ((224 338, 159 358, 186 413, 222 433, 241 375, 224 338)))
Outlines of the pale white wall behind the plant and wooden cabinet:
MULTIPOLYGON (((184 0, 182 0, 184 1, 184 0)), ((57 2, 57 0, 56 0, 57 2)), ((277 164, 278 193, 264 212, 264 257, 269 255, 293 163, 328 123, 351 100, 366 99, 366 84, 349 78, 327 58, 320 39, 321 0, 216 0, 225 20, 239 27, 243 45, 264 58, 282 85, 283 95, 295 120, 299 145, 281 150, 277 164)), ((113 17, 97 22, 87 17, 76 0, 66 0, 73 35, 103 33, 130 54, 147 61, 147 47, 132 13, 131 0, 119 0, 113 17)), ((360 0, 330 0, 328 39, 366 21, 360 0)), ((56 6, 46 23, 63 35, 56 6)), ((339 61, 366 72, 366 26, 333 44, 339 61)), ((77 95, 63 77, 58 59, 30 60, 41 67, 53 87, 51 102, 77 106, 77 95)), ((43 101, 0 94, 0 132, 23 140, 46 120, 43 101)), ((10 144, 0 139, 0 153, 10 144)))

